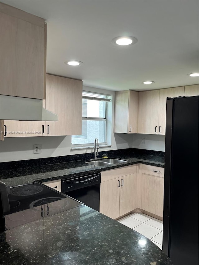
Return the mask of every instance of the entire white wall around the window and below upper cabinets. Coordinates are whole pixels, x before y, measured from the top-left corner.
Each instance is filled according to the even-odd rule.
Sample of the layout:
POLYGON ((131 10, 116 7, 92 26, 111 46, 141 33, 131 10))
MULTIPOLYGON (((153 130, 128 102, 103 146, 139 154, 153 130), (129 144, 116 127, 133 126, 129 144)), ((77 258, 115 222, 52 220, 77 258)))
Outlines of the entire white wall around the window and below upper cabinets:
MULTIPOLYGON (((85 91, 101 92, 104 94, 112 94, 114 103, 114 91, 97 89, 83 86, 85 91)), ((148 150, 164 151, 164 135, 141 135, 141 134, 120 134, 113 133, 114 121, 114 104, 112 105, 112 113, 109 112, 109 123, 111 129, 111 137, 108 143, 112 146, 109 148, 100 148, 99 151, 116 150, 123 148, 140 148, 148 150), (145 138, 145 144, 141 144, 141 138, 145 138), (110 139, 111 138, 111 139, 110 139)), ((43 136, 43 137, 16 137, 5 138, 0 141, 0 162, 17 161, 26 159, 66 156, 78 153, 91 153, 92 149, 71 150, 71 136, 43 136), (42 144, 43 153, 34 154, 34 144, 42 144)))

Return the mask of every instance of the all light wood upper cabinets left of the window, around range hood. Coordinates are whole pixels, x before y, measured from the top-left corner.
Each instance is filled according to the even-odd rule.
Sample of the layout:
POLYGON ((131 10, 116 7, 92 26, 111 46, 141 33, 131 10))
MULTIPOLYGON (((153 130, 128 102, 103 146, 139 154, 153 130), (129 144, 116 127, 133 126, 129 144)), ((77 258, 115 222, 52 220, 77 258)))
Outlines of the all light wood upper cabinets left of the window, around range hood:
POLYGON ((1 121, 4 137, 81 135, 82 81, 46 75, 44 19, 0 3, 0 36, 0 94, 44 99, 58 114, 53 122, 5 120, 4 129, 1 121))

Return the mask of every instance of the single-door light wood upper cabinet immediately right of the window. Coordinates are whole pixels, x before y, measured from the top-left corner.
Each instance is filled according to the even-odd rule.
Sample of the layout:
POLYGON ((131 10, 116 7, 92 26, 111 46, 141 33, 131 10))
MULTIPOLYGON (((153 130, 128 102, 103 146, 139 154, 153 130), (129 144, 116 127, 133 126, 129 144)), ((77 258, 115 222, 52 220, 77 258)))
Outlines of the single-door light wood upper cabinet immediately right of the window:
POLYGON ((139 93, 132 90, 115 92, 114 132, 137 133, 139 93))

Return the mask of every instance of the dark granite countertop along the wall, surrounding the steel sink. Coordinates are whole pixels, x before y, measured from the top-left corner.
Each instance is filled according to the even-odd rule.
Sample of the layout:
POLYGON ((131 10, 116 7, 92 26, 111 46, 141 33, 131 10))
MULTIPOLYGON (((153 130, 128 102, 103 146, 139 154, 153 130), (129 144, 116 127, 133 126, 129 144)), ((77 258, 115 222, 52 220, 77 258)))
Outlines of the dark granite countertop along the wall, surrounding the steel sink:
MULTIPOLYGON (((151 154, 116 154, 112 158, 127 160, 122 164, 107 166, 94 166, 86 164, 86 160, 69 161, 35 167, 1 170, 0 179, 9 186, 22 185, 33 181, 45 182, 50 180, 67 179, 75 176, 98 173, 118 167, 129 166, 137 163, 164 167, 164 157, 151 154)), ((110 157, 109 157, 110 158, 110 157)), ((88 160, 88 159, 87 159, 88 160)))

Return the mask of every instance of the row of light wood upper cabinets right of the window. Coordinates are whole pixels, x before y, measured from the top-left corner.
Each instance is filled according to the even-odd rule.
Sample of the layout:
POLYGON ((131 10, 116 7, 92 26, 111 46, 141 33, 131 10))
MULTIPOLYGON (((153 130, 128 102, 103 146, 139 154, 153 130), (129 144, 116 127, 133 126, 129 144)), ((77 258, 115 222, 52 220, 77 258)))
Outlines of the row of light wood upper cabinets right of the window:
POLYGON ((115 93, 114 132, 165 135, 166 98, 199 95, 199 85, 115 93))

